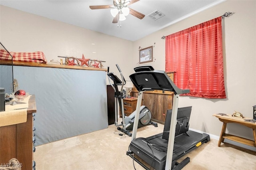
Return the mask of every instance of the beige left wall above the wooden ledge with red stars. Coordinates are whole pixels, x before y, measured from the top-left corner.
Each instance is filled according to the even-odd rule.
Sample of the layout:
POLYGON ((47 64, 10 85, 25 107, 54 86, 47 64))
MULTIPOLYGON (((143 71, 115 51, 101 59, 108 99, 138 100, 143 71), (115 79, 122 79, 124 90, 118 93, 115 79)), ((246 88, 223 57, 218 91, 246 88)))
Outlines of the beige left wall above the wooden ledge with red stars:
MULTIPOLYGON (((106 61, 104 68, 118 73, 116 63, 127 72, 132 61, 132 42, 0 6, 0 41, 15 52, 43 51, 48 62, 58 56, 106 61), (94 43, 95 45, 92 45, 94 43), (92 53, 96 52, 96 53, 92 53)), ((129 75, 124 75, 125 78, 129 75)))

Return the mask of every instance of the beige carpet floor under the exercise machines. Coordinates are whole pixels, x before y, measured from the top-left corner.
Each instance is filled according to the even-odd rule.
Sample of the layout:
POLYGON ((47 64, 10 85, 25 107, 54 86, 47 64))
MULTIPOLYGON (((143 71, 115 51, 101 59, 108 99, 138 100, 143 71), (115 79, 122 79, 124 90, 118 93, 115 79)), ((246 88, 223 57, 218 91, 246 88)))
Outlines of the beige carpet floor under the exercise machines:
MULTIPOLYGON (((161 124, 139 128, 137 137, 158 134, 163 128, 161 124)), ((116 133, 116 127, 110 125, 104 130, 37 146, 36 170, 132 170, 132 158, 126 155, 131 137, 116 133)), ((256 170, 255 152, 242 151, 226 143, 218 147, 218 140, 214 139, 184 158, 187 156, 190 162, 183 170, 256 170)), ((135 161, 134 165, 136 170, 144 170, 135 161)))

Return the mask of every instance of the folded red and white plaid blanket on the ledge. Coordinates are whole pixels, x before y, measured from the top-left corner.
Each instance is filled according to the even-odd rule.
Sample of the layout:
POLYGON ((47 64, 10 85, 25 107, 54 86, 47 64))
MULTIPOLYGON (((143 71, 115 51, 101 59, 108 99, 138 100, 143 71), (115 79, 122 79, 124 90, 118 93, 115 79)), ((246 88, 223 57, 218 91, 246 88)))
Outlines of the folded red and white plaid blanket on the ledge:
MULTIPOLYGON (((13 57, 13 61, 26 61, 34 63, 47 63, 45 55, 42 51, 36 52, 10 52, 13 57)), ((4 50, 0 49, 0 59, 2 60, 12 60, 10 54, 4 50)))

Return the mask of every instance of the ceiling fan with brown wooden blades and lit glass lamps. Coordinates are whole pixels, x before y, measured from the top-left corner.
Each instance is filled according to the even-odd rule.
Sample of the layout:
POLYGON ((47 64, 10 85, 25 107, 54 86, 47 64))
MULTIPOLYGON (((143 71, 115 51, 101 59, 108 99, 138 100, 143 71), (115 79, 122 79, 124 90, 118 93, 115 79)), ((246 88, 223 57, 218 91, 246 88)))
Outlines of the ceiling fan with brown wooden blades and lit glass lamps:
POLYGON ((113 0, 113 5, 93 5, 90 6, 92 10, 98 10, 98 9, 107 9, 107 8, 112 8, 110 10, 112 16, 114 17, 112 23, 118 23, 118 21, 123 21, 125 20, 125 16, 128 14, 131 14, 139 19, 144 18, 144 14, 133 10, 131 8, 128 8, 128 5, 131 5, 135 2, 138 2, 139 0, 113 0))

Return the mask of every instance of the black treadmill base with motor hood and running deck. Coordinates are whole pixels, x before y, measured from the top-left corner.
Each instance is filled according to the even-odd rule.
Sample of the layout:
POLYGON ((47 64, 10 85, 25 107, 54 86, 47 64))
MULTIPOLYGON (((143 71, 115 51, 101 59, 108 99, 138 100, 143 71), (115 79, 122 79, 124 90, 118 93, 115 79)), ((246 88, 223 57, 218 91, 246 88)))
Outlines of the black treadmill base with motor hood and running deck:
MULTIPOLYGON (((186 133, 180 134, 175 137, 174 140, 174 151, 172 156, 172 167, 174 166, 176 160, 184 156, 184 154, 194 150, 196 144, 205 143, 210 140, 208 134, 201 134, 188 130, 188 135, 186 133)), ((166 162, 166 151, 168 146, 168 140, 162 139, 162 134, 156 134, 148 138, 136 138, 132 140, 130 144, 130 150, 138 155, 142 160, 151 164, 152 162, 152 151, 154 152, 154 163, 153 167, 161 170, 165 166, 166 162), (148 146, 151 144, 151 149, 148 146)))

